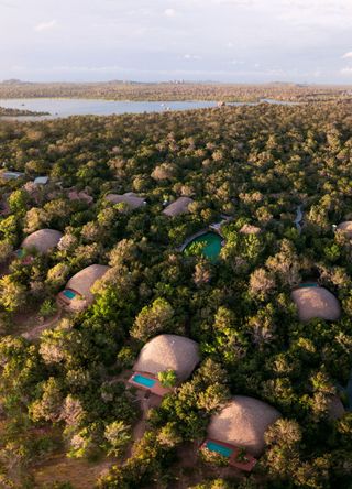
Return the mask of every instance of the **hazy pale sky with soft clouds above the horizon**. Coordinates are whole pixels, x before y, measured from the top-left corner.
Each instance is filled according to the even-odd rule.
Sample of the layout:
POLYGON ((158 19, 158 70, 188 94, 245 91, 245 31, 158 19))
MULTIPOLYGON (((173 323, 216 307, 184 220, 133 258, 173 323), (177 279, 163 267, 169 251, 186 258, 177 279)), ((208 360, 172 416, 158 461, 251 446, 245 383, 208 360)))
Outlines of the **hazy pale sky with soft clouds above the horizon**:
POLYGON ((0 0, 0 79, 352 84, 352 0, 0 0))

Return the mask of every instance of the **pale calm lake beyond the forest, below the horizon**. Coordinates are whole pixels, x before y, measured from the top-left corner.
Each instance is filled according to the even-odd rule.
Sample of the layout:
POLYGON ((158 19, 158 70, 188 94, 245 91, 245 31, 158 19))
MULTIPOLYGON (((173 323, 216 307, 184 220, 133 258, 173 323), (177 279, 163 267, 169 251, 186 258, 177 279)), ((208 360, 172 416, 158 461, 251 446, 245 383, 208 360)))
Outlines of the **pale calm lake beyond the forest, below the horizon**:
MULTIPOLYGON (((263 99, 257 102, 229 102, 229 106, 257 106, 262 102, 292 105, 278 100, 263 99)), ((121 101, 75 98, 13 98, 0 99, 0 107, 11 109, 50 112, 51 116, 3 117, 18 120, 46 120, 69 116, 112 116, 121 113, 165 112, 169 110, 208 109, 217 107, 217 101, 121 101)))

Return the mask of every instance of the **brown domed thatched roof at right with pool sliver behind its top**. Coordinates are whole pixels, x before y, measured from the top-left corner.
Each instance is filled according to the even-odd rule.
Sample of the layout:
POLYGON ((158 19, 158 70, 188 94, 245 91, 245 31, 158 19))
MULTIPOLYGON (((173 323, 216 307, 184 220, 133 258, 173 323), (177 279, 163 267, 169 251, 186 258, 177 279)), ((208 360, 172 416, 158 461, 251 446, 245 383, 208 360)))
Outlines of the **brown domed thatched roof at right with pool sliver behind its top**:
POLYGON ((324 287, 300 287, 292 293, 300 320, 315 317, 337 320, 341 315, 339 301, 324 287))

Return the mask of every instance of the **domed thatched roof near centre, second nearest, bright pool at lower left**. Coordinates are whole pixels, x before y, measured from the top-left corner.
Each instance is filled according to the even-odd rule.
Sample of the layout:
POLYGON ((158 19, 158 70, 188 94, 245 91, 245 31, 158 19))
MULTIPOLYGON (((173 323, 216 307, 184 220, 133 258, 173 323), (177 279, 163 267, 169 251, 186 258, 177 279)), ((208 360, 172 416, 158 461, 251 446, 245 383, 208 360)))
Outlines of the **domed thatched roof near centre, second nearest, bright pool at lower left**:
POLYGON ((156 376, 170 369, 182 381, 188 379, 199 360, 199 347, 193 339, 176 335, 160 335, 144 345, 133 370, 156 376))

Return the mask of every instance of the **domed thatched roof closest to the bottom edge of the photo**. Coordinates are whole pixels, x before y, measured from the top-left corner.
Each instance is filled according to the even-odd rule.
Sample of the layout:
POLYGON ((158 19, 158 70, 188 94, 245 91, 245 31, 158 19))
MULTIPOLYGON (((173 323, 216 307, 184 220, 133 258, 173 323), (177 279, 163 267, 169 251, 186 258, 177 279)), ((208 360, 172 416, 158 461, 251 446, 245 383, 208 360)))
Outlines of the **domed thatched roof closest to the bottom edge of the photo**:
POLYGON ((279 417, 280 413, 265 402, 235 395, 220 413, 212 415, 208 437, 244 447, 257 457, 264 450, 264 433, 279 417))

